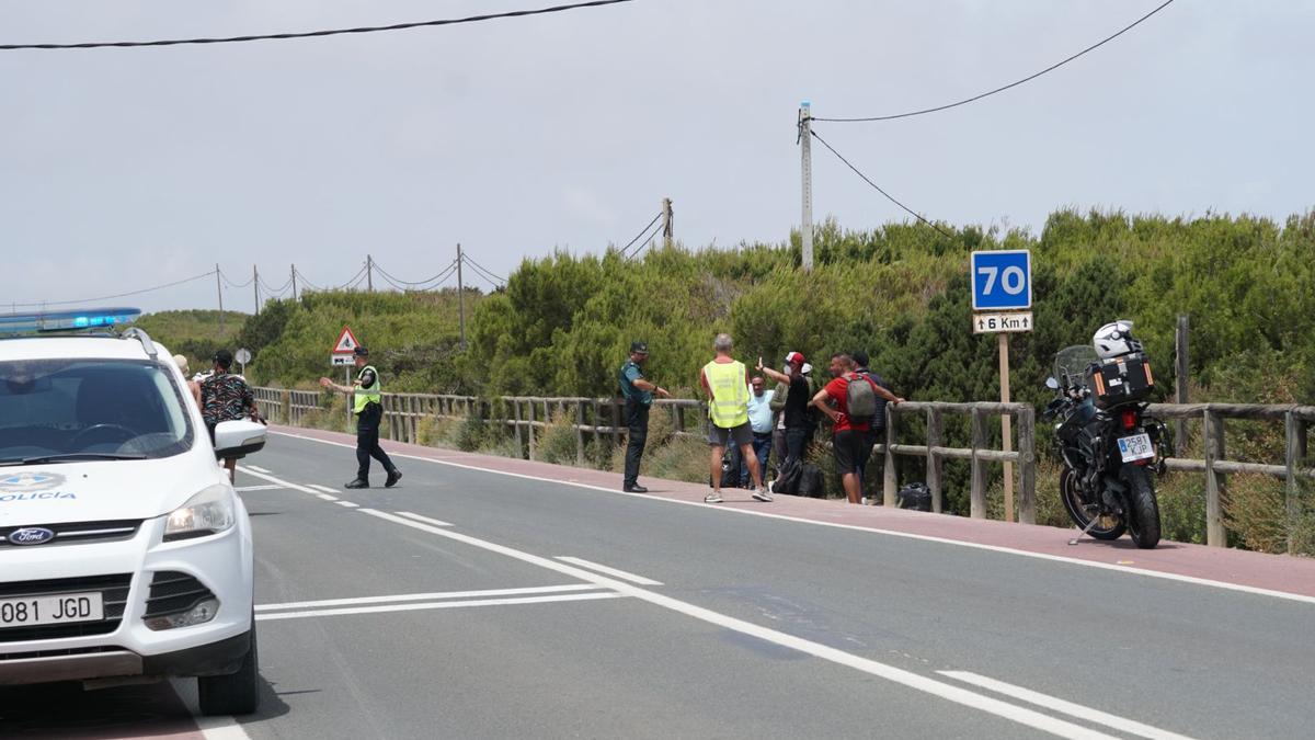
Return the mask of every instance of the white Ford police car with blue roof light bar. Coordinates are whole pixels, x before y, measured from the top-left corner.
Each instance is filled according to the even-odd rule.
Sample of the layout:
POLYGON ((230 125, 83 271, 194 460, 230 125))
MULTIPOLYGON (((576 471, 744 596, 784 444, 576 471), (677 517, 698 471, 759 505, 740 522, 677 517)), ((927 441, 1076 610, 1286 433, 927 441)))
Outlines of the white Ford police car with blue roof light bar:
POLYGON ((195 675, 205 714, 252 712, 251 524, 216 454, 264 428, 212 446, 164 348, 107 332, 138 313, 0 316, 0 686, 195 675))

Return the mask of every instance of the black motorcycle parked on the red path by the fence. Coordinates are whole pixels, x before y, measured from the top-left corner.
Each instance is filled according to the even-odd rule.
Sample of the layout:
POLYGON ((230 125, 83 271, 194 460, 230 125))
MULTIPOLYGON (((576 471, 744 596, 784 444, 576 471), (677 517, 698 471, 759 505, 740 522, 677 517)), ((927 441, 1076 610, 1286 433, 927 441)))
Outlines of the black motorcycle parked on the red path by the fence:
POLYGON ((1152 474, 1165 470, 1160 449, 1166 427, 1141 400, 1152 384, 1140 352, 1102 358, 1090 345, 1070 346, 1055 356, 1045 386, 1056 398, 1043 415, 1056 421, 1055 444, 1064 461, 1060 498, 1069 517, 1097 540, 1127 532, 1141 549, 1160 542, 1152 474))

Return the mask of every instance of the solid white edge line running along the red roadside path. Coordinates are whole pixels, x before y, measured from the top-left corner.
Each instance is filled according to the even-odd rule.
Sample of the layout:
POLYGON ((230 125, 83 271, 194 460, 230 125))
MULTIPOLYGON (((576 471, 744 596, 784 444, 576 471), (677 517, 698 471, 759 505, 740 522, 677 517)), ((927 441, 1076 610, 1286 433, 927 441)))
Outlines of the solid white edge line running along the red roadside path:
MULTIPOLYGON (((293 435, 293 433, 289 433, 289 432, 270 432, 270 433, 271 435, 279 435, 279 436, 283 436, 283 437, 293 437, 293 438, 297 438, 297 440, 306 440, 309 442, 318 442, 318 444, 322 444, 322 445, 333 445, 333 446, 339 446, 339 448, 355 449, 355 445, 347 445, 347 444, 335 442, 335 441, 331 441, 331 440, 317 440, 314 437, 308 437, 305 435, 293 435)), ((1260 587, 1256 587, 1256 586, 1243 586, 1240 583, 1227 583, 1224 581, 1211 581, 1208 578, 1197 578, 1194 575, 1178 575, 1177 573, 1164 573, 1164 571, 1160 571, 1160 570, 1147 570, 1144 568, 1128 568, 1126 565, 1112 565, 1112 564, 1107 564, 1107 562, 1095 562, 1095 561, 1080 560, 1080 558, 1074 558, 1074 557, 1055 556, 1055 554, 1047 554, 1047 553, 1034 553, 1034 552, 1028 552, 1028 550, 1019 550, 1019 549, 1005 548, 1005 546, 999 546, 999 545, 984 545, 981 542, 965 542, 963 540, 951 540, 948 537, 934 537, 931 535, 914 535, 913 532, 898 532, 898 531, 894 531, 894 529, 877 529, 877 528, 873 528, 873 527, 859 527, 859 525, 855 525, 855 524, 840 524, 840 523, 836 523, 836 521, 815 521, 813 519, 802 519, 802 517, 798 517, 798 516, 789 516, 789 515, 784 515, 784 514, 769 514, 769 512, 765 512, 765 511, 757 511, 757 510, 750 510, 750 508, 709 507, 707 504, 701 503, 701 502, 686 502, 686 500, 680 500, 680 499, 668 499, 668 498, 663 498, 663 496, 655 496, 652 494, 627 494, 625 491, 618 491, 615 489, 605 489, 602 486, 592 486, 589 483, 576 483, 573 481, 558 481, 558 479, 554 479, 554 478, 543 478, 543 477, 539 477, 539 475, 526 475, 523 473, 512 473, 509 470, 494 470, 492 467, 479 467, 476 465, 467 465, 467 463, 463 463, 463 462, 452 462, 452 461, 448 461, 448 460, 434 460, 431 457, 419 457, 419 456, 405 454, 405 453, 389 453, 389 454, 392 457, 400 457, 400 458, 405 458, 405 460, 418 460, 421 462, 431 462, 434 465, 447 465, 447 466, 451 466, 451 467, 462 467, 464 470, 473 470, 473 471, 477 471, 477 473, 492 473, 494 475, 509 475, 512 478, 521 478, 521 479, 525 479, 525 481, 537 481, 537 482, 540 482, 540 483, 558 483, 560 486, 573 486, 576 489, 588 489, 588 490, 592 490, 592 491, 602 491, 605 494, 613 494, 613 495, 618 495, 618 496, 631 496, 631 498, 636 498, 636 499, 648 499, 648 500, 663 502, 663 503, 669 503, 669 504, 679 504, 679 506, 694 506, 694 507, 698 507, 698 508, 701 508, 704 511, 719 511, 719 512, 738 514, 738 515, 744 515, 744 516, 763 516, 765 519, 777 519, 777 520, 781 520, 781 521, 796 521, 796 523, 800 523, 800 524, 813 524, 815 527, 832 527, 832 528, 836 528, 836 529, 849 529, 849 531, 853 531, 853 532, 867 532, 869 535, 886 535, 889 537, 903 537, 903 539, 907 539, 907 540, 920 540, 923 542, 936 542, 936 544, 942 544, 942 545, 956 545, 956 546, 960 546, 960 548, 972 548, 972 549, 977 549, 977 550, 990 550, 990 552, 997 552, 997 553, 1005 553, 1005 554, 1013 554, 1013 556, 1020 556, 1020 557, 1030 557, 1030 558, 1035 558, 1035 560, 1047 560, 1047 561, 1051 561, 1051 562, 1064 562, 1064 564, 1068 564, 1068 565, 1081 565, 1084 568, 1098 568, 1101 570, 1112 570, 1115 573, 1126 573, 1126 574, 1131 574, 1131 575, 1145 575, 1148 578, 1162 578, 1165 581, 1178 581, 1180 583, 1191 583, 1194 586, 1208 586, 1211 589, 1224 589, 1227 591, 1240 591, 1243 594, 1252 594, 1252 595, 1257 595, 1257 596, 1272 596, 1272 598, 1276 598, 1276 599, 1287 599, 1287 600, 1293 600, 1293 602, 1303 602, 1303 603, 1308 603, 1308 604, 1315 604, 1315 596, 1307 596, 1307 595, 1303 595, 1303 594, 1290 594, 1287 591, 1274 591, 1272 589, 1260 589, 1260 587)))

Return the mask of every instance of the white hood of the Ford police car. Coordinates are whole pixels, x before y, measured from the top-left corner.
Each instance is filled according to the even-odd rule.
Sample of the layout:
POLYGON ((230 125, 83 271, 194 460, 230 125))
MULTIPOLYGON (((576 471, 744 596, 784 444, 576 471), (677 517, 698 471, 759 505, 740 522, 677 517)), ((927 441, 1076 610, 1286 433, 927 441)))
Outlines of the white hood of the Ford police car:
POLYGON ((185 457, 0 467, 0 528, 151 519, 227 482, 218 466, 199 482, 185 457))

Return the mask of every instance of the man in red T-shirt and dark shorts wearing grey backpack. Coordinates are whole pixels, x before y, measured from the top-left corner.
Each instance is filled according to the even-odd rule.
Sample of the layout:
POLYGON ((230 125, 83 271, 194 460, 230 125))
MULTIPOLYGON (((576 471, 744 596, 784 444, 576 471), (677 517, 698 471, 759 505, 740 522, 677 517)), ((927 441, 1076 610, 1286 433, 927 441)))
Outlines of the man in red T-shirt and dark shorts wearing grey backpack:
POLYGON ((872 423, 877 413, 877 399, 901 403, 903 399, 882 388, 868 375, 855 373, 853 358, 838 352, 831 356, 831 377, 825 388, 813 396, 813 406, 826 413, 834 424, 836 473, 849 503, 863 498, 863 469, 872 457, 872 423))

